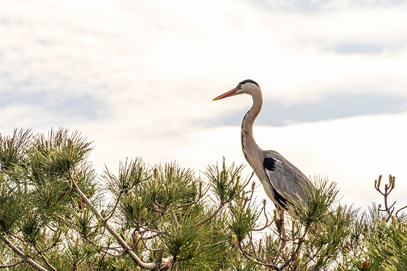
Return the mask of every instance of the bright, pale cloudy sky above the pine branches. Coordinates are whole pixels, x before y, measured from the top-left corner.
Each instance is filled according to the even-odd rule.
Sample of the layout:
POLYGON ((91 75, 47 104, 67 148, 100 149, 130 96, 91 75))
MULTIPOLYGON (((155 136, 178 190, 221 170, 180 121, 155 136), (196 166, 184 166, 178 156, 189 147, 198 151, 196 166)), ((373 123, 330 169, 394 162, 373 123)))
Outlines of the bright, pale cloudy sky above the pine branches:
MULTIPOLYGON (((0 133, 78 130, 101 174, 119 161, 204 170, 246 161, 251 98, 212 101, 244 79, 261 86, 258 145, 341 202, 382 202, 396 176, 407 205, 407 4, 401 0, 0 0, 0 133)), ((246 166, 245 175, 251 173, 246 166)), ((258 181, 258 180, 257 180, 258 181)), ((266 198, 262 187, 258 198, 266 198)), ((268 201, 270 208, 271 201, 268 201)))

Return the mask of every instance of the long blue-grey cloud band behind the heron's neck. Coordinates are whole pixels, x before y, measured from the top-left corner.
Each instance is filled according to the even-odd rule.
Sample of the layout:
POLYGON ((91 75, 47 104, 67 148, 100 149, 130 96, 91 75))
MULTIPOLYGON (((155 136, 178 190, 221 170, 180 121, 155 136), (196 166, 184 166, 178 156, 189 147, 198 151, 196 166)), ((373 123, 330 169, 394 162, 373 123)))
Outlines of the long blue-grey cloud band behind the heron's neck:
MULTIPOLYGON (((249 100, 249 99, 248 99, 249 100)), ((213 120, 218 125, 236 125, 249 109, 228 112, 213 120)), ((360 115, 391 114, 407 111, 407 97, 386 94, 353 94, 338 90, 336 93, 321 95, 318 100, 298 101, 285 104, 277 99, 264 101, 263 110, 256 123, 282 126, 296 122, 334 120, 360 115)))

